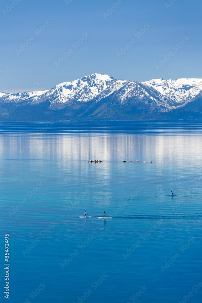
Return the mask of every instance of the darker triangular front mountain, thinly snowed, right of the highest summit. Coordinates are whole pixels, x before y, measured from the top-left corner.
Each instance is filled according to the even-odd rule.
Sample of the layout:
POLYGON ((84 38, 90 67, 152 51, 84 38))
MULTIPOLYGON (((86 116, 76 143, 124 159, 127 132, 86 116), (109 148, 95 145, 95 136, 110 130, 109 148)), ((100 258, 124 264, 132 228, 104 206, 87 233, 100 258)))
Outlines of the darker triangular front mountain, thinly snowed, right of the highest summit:
POLYGON ((163 113, 179 106, 150 85, 140 82, 124 81, 118 90, 114 89, 112 92, 110 88, 110 94, 108 90, 94 98, 76 117, 97 117, 107 120, 114 116, 120 118, 123 115, 131 117, 136 114, 163 113))

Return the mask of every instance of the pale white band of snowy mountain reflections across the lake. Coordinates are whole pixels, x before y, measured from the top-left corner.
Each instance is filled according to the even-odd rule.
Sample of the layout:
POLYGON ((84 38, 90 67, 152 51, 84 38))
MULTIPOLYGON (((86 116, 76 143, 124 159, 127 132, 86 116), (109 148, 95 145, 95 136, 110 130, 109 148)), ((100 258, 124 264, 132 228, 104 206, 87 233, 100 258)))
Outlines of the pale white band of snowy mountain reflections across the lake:
MULTIPOLYGON (((201 135, 76 135, 0 137, 1 159, 201 162, 201 135), (93 159, 93 155, 95 158, 93 159)), ((198 165, 198 164, 197 164, 198 165)))

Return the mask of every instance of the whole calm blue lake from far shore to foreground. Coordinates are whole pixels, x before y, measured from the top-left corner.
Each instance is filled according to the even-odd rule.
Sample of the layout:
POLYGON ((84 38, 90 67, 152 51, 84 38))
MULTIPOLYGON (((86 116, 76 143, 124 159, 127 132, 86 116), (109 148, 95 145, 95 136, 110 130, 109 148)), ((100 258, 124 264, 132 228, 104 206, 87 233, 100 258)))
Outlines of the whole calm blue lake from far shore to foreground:
POLYGON ((200 302, 201 130, 201 121, 0 123, 10 302, 185 303, 189 292, 200 302), (112 219, 98 219, 104 211, 112 219))

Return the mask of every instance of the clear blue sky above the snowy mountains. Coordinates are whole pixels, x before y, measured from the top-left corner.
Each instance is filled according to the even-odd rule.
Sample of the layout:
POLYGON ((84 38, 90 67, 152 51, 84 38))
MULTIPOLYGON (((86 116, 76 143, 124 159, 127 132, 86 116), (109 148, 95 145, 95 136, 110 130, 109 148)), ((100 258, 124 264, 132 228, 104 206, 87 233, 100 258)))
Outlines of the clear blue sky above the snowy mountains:
POLYGON ((201 0, 66 2, 1 1, 1 92, 26 91, 33 86, 49 89, 96 72, 140 82, 153 78, 202 78, 201 0), (169 2, 174 4, 166 7, 169 2), (112 3, 118 7, 112 8, 109 15, 112 3), (103 15, 107 12, 108 16, 103 15), (45 21, 51 23, 46 23, 42 31, 45 21), (150 28, 134 37, 145 23, 150 28), (83 33, 89 36, 86 38, 83 33), (28 47, 16 51, 30 36, 33 40, 28 47), (173 50, 183 36, 190 39, 184 40, 186 43, 178 51, 173 50), (85 40, 80 40, 81 45, 72 46, 82 37, 85 40), (117 52, 131 39, 135 43, 118 56, 117 52), (55 64, 70 48, 69 57, 60 65, 55 64), (164 65, 155 68, 169 52, 173 52, 170 60, 164 59, 164 65))

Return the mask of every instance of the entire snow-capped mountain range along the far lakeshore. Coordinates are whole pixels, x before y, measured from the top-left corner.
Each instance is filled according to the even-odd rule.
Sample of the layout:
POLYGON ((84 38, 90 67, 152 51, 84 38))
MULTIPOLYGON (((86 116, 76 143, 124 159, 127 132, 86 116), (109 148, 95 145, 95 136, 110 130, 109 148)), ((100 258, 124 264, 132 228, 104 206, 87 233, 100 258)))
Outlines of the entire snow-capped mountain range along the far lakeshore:
POLYGON ((0 121, 202 118, 202 79, 146 82, 93 74, 46 91, 0 93, 0 121))

